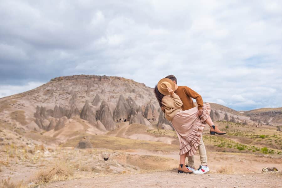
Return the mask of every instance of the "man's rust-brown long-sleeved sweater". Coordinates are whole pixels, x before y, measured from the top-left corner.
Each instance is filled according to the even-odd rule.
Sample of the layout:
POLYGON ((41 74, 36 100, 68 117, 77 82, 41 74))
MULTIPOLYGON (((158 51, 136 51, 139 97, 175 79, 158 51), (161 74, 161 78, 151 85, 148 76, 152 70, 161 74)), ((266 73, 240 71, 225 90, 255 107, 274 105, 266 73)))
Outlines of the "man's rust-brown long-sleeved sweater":
POLYGON ((177 90, 175 90, 174 92, 179 96, 179 98, 183 102, 183 105, 181 106, 181 109, 183 111, 196 107, 192 98, 196 99, 198 104, 198 110, 201 110, 203 108, 203 99, 201 95, 199 95, 196 91, 192 90, 190 87, 178 86, 177 90))

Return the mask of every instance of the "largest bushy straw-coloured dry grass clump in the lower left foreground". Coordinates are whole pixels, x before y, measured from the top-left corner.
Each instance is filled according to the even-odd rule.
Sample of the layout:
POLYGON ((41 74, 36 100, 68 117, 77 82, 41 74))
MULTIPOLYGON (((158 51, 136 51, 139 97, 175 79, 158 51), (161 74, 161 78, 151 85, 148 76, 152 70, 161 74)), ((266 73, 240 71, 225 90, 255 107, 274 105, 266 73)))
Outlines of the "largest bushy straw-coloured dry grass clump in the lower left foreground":
POLYGON ((57 161, 53 167, 39 171, 34 178, 35 186, 55 181, 70 180, 73 178, 73 169, 62 161, 57 161))

